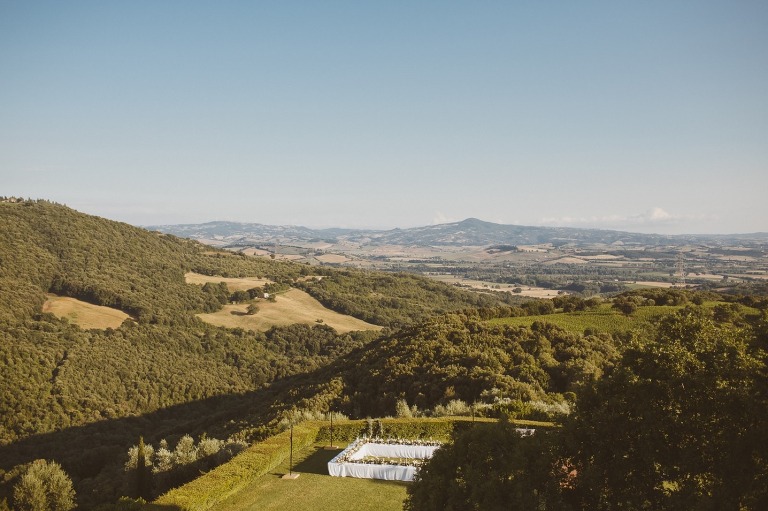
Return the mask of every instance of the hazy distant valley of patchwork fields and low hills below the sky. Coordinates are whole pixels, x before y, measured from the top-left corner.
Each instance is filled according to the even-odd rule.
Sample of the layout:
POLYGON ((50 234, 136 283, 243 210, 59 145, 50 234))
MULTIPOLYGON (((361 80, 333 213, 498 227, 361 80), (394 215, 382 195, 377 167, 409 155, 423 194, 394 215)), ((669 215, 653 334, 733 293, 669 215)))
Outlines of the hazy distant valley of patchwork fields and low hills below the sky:
POLYGON ((642 286, 764 289, 768 278, 766 233, 660 236, 477 219, 391 231, 231 222, 149 228, 258 257, 412 272, 473 289, 519 287, 521 296, 540 298, 642 286))

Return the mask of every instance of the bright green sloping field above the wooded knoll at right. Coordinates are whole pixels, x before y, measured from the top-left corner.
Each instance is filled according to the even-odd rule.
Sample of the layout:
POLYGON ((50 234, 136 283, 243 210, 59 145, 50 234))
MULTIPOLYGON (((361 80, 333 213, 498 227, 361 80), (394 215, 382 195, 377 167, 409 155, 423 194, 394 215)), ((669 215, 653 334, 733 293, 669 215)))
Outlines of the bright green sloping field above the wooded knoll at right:
POLYGON ((588 328, 599 332, 616 333, 650 328, 662 317, 673 314, 678 309, 680 309, 679 306, 667 305, 640 307, 631 316, 625 316, 613 310, 610 304, 603 304, 598 309, 589 311, 498 318, 489 322, 496 325, 531 326, 535 321, 541 321, 552 323, 574 333, 584 333, 588 328))

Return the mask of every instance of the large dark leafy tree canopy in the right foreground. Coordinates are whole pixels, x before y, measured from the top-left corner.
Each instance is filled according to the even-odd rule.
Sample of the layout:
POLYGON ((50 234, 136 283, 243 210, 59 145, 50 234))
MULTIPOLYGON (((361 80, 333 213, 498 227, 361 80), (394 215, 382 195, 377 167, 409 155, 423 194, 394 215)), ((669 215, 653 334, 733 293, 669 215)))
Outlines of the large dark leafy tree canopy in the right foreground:
POLYGON ((459 434, 407 509, 766 509, 765 317, 749 328, 700 307, 665 318, 585 386, 561 430, 459 434))

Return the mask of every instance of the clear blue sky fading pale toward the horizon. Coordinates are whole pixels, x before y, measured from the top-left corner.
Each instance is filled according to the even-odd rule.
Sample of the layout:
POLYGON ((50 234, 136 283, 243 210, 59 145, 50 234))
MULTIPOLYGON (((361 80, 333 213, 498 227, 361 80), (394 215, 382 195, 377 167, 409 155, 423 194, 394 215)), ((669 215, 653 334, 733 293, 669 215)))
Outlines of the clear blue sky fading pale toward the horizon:
POLYGON ((768 231, 768 2, 0 0, 0 195, 768 231))

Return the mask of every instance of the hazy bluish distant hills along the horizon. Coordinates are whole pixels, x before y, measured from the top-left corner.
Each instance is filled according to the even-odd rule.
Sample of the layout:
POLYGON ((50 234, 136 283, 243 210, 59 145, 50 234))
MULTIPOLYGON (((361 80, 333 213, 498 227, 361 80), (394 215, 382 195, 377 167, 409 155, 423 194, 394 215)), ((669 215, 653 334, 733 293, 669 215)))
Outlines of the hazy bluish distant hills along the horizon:
POLYGON ((717 245, 764 243, 768 233, 733 235, 660 235, 602 229, 504 225, 468 218, 425 227, 392 230, 310 229, 258 223, 208 222, 204 224, 154 225, 148 229, 220 245, 325 241, 361 245, 488 246, 531 245, 717 245))

